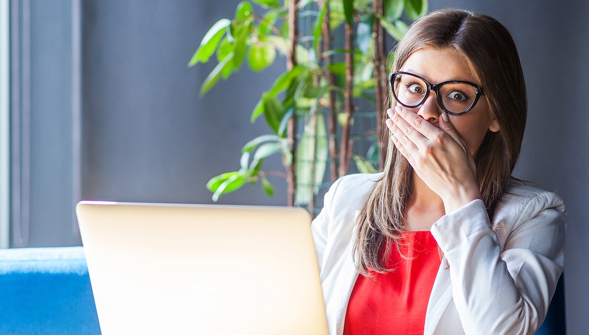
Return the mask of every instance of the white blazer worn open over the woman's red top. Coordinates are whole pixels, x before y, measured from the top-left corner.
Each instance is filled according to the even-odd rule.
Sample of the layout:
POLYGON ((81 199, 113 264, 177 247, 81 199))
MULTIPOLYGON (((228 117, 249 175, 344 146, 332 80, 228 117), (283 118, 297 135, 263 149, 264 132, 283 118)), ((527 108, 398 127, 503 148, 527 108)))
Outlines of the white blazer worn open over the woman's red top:
MULTIPOLYGON (((355 221, 382 174, 347 175, 325 195, 312 230, 330 335, 341 335, 358 278, 355 221)), ((560 197, 512 181, 493 223, 482 200, 441 217, 432 235, 448 260, 429 297, 424 335, 534 334, 564 263, 560 197)))

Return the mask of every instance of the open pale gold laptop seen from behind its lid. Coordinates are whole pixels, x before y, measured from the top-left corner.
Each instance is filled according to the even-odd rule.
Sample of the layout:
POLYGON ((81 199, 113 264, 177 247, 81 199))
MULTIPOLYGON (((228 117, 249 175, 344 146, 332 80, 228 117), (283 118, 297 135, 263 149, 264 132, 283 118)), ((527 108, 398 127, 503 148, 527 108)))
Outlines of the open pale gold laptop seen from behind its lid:
POLYGON ((323 335, 302 208, 82 201, 102 335, 323 335))

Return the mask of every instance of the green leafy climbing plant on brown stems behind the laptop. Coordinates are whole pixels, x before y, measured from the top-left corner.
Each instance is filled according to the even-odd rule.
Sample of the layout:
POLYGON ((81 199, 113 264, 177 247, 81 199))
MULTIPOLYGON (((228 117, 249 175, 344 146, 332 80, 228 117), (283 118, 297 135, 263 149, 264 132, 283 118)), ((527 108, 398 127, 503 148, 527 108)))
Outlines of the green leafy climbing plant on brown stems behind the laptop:
MULTIPOLYGON (((201 94, 239 71, 244 62, 262 71, 277 54, 287 59, 286 71, 263 92, 251 121, 262 117, 270 134, 244 145, 240 168, 212 178, 207 188, 213 200, 244 184, 260 181, 267 194, 273 185, 263 161, 282 155, 288 204, 315 206, 315 196, 329 165, 330 181, 349 171, 353 160, 361 172, 382 168, 386 141, 383 114, 387 88, 385 32, 399 40, 410 21, 425 15, 427 0, 252 0, 241 1, 233 19, 220 19, 202 39, 189 62, 217 65, 201 86, 201 94), (252 3, 253 2, 253 3, 252 3), (254 4, 263 14, 254 13, 254 4), (299 21, 313 29, 302 34, 299 21), (308 21, 306 21, 308 22, 308 21), (340 35, 343 34, 343 37, 340 35), (342 45, 343 44, 343 45, 342 45), (375 110, 376 130, 368 153, 353 154, 350 131, 355 104, 366 101, 375 110), (299 130, 297 125, 303 125, 299 130), (300 140, 296 140, 296 135, 300 140), (375 166, 376 165, 376 166, 375 166)), ((390 60, 390 59, 389 59, 390 60)))

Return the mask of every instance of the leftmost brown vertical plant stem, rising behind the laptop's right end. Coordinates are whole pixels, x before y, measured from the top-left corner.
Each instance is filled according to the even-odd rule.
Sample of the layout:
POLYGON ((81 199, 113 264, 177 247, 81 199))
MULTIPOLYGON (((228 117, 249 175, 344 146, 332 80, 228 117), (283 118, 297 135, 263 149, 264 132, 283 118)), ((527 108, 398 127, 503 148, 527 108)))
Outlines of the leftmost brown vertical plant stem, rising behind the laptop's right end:
MULTIPOLYGON (((299 42, 298 29, 298 15, 297 15, 298 0, 289 0, 289 39, 290 39, 290 54, 287 59, 286 69, 290 71, 296 65, 296 45, 299 42)), ((286 167, 286 185, 287 185, 287 205, 294 206, 294 190, 296 187, 296 175, 294 174, 294 164, 296 164, 296 132, 297 132, 297 112, 296 104, 294 106, 293 116, 290 118, 287 125, 287 138, 289 142, 289 150, 292 152, 292 161, 290 164, 284 164, 286 167)), ((284 162, 286 163, 286 162, 284 162)))

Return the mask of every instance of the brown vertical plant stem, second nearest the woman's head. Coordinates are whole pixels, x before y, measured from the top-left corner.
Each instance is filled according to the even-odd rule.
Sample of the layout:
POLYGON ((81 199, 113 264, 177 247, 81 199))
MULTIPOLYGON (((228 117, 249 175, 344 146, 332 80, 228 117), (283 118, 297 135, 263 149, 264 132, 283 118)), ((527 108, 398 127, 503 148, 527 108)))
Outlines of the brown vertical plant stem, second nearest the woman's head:
MULTIPOLYGON (((352 50, 352 24, 346 22, 345 49, 352 50)), ((353 113, 353 81, 354 81, 354 55, 346 52, 346 92, 344 94, 344 111, 346 119, 342 127, 342 140, 340 144, 339 175, 348 174, 350 157, 352 155, 352 140, 350 138, 350 123, 353 113)))

